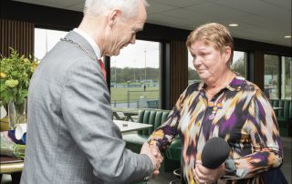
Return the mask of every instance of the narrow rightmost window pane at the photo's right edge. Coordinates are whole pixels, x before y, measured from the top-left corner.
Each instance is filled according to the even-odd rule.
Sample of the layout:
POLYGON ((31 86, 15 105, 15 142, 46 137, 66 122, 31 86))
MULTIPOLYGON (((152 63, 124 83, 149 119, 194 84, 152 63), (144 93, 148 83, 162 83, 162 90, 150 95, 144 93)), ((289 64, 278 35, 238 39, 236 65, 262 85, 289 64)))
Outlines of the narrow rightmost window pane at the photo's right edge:
POLYGON ((292 99, 292 57, 282 56, 281 98, 292 99))

